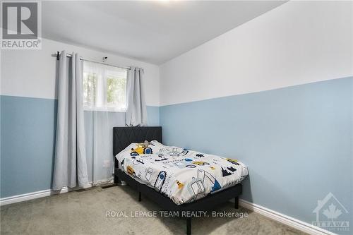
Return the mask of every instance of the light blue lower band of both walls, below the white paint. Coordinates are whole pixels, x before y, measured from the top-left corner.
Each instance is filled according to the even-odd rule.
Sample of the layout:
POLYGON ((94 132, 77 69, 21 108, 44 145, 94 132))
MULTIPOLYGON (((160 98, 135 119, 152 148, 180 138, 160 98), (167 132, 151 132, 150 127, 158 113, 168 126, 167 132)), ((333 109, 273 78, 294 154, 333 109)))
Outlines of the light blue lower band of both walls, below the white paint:
MULTIPOLYGON (((247 164, 244 199, 310 223, 332 192, 353 224, 352 94, 342 78, 148 107, 148 117, 166 144, 247 164)), ((56 100, 1 96, 1 198, 51 187, 55 123, 56 100)))

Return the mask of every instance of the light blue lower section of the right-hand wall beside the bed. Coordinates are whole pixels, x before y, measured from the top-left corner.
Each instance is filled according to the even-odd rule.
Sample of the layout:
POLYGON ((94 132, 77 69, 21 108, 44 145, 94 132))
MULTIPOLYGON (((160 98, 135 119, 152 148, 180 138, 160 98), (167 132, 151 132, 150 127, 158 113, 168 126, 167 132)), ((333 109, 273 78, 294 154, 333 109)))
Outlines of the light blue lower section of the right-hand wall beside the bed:
POLYGON ((245 200, 311 223, 332 192, 353 224, 352 93, 342 78, 160 107, 163 141, 247 164, 245 200))

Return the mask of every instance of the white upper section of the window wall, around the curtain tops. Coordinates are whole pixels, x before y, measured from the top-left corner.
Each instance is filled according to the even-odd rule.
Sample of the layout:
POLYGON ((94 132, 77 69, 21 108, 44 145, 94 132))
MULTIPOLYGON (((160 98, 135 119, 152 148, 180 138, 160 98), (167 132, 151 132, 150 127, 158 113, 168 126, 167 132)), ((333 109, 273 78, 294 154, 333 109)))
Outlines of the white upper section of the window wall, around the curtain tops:
POLYGON ((156 65, 104 52, 76 47, 52 40, 42 40, 40 50, 0 50, 1 95, 56 99, 56 51, 77 52, 83 58, 100 61, 108 56, 109 64, 143 67, 146 80, 146 104, 160 103, 160 74, 156 65))

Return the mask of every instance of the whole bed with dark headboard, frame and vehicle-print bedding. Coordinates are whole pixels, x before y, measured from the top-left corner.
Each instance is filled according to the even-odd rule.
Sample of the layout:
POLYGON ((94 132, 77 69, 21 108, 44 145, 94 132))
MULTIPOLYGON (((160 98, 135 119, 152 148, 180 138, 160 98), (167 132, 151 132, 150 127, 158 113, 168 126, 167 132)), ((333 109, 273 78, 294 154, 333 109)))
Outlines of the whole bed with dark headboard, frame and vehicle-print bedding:
MULTIPOLYGON (((242 179, 244 179, 244 175, 240 177, 232 179, 232 183, 229 182, 221 182, 220 184, 223 186, 225 184, 228 185, 227 188, 220 188, 220 184, 215 182, 215 180, 208 180, 208 184, 204 182, 205 187, 200 189, 198 192, 193 192, 194 188, 190 186, 191 184, 197 185, 195 183, 195 177, 184 177, 182 182, 179 182, 177 179, 173 179, 173 186, 167 187, 164 186, 162 190, 163 183, 166 179, 166 175, 168 173, 167 169, 169 167, 174 167, 174 171, 178 167, 185 171, 185 169, 189 167, 193 168, 193 172, 195 174, 202 174, 205 179, 211 179, 212 177, 208 172, 212 172, 215 164, 217 162, 212 162, 210 164, 210 159, 204 161, 203 159, 207 159, 208 156, 194 156, 196 159, 191 157, 191 155, 198 155, 197 152, 186 152, 188 150, 174 150, 172 156, 169 151, 167 154, 160 154, 160 149, 163 148, 162 145, 162 127, 114 127, 113 128, 113 154, 114 154, 114 183, 117 185, 120 184, 121 181, 125 181, 129 186, 135 188, 138 192, 138 200, 141 200, 142 195, 148 197, 153 202, 157 203, 162 207, 162 210, 167 210, 171 212, 177 212, 178 215, 184 217, 186 219, 186 234, 191 234, 191 216, 193 212, 212 210, 217 205, 227 202, 234 198, 234 207, 238 208, 239 203, 239 195, 241 194, 241 183, 239 183, 242 179), (145 140, 150 142, 150 145, 135 146, 131 145, 131 143, 143 143, 145 140), (154 140, 154 141, 152 141, 154 140), (158 149, 158 151, 157 151, 158 149), (145 151, 145 152, 144 152, 145 151), (155 157, 152 159, 145 154, 150 154, 152 152, 158 152, 158 155, 148 155, 155 157), (128 158, 127 157, 128 154, 128 158), (175 155, 175 156, 173 156, 175 155), (148 158, 141 158, 148 157, 148 158), (183 161, 177 161, 173 157, 179 157, 183 159, 183 161), (200 158, 200 160, 198 160, 200 158), (129 162, 128 162, 129 161, 129 162), (156 162, 155 162, 156 161, 156 162), (155 164, 157 161, 164 162, 164 166, 162 164, 155 164), (190 162, 189 162, 190 161, 190 162), (147 165, 148 162, 155 162, 152 165, 147 165), (175 164, 177 162, 177 164, 175 164), (180 166, 180 163, 182 165, 180 166), (161 170, 159 167, 163 166, 166 168, 165 170, 161 170), (198 168, 196 169, 195 166, 198 168), (199 167, 201 166, 201 167, 199 167), (140 167, 140 168, 138 168, 140 167), (141 168, 145 167, 145 169, 141 168), (138 170, 140 169, 140 170, 138 170), (157 169, 157 171, 156 171, 157 169), (206 169, 206 170, 205 170, 206 169), (155 176, 152 176, 152 172, 155 170, 155 176), (136 175, 137 172, 143 171, 143 176, 136 175), (164 173, 163 173, 164 171, 164 173), (161 173, 162 172, 162 173, 161 173), (206 172, 206 174, 205 174, 206 172), (208 177, 207 177, 208 176, 208 177), (153 178, 154 177, 154 178, 153 178), (152 178, 152 179, 151 179, 152 178), (190 182, 186 182, 186 178, 190 178, 190 182), (141 179, 145 179, 142 181, 141 179), (148 181, 150 179, 150 181, 148 181), (156 179, 156 180, 155 180, 156 179), (189 186, 189 190, 184 190, 186 193, 176 193, 179 188, 189 186), (200 193, 200 190, 203 193, 200 193), (190 194, 190 195, 189 195, 190 194)), ((212 157, 212 156, 211 156, 212 157)), ((223 174, 230 174, 235 171, 236 167, 241 167, 239 163, 235 162, 232 159, 222 158, 222 161, 227 163, 227 167, 229 167, 230 171, 226 171, 223 174)), ((222 163, 222 164, 225 164, 222 163)), ((220 168, 220 167, 218 167, 220 168)), ((222 170, 223 170, 222 168, 222 170)), ((239 169, 239 168, 238 168, 239 169)), ((239 171, 239 170, 238 170, 239 171)), ((247 172, 247 169, 246 169, 247 172)), ((247 174, 247 173, 246 173, 247 174)), ((182 174, 179 174, 179 178, 182 174)), ((213 175, 215 176, 215 175, 213 175)), ((198 177, 197 177, 198 178, 198 177)), ((228 177, 229 178, 229 177, 228 177)), ((182 178, 181 178, 182 179, 182 178)), ((219 179, 216 177, 216 179, 219 179)), ((231 178, 229 178, 231 179, 231 178)), ((220 179, 219 179, 220 180, 220 179)))

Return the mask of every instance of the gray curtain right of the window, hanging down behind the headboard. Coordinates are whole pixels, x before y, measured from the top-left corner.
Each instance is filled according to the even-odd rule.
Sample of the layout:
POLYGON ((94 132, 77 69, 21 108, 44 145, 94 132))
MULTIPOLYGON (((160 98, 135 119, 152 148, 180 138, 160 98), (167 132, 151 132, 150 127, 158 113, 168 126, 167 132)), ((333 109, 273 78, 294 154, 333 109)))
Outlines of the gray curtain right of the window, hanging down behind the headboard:
POLYGON ((126 126, 147 125, 143 68, 131 67, 126 81, 126 126))

